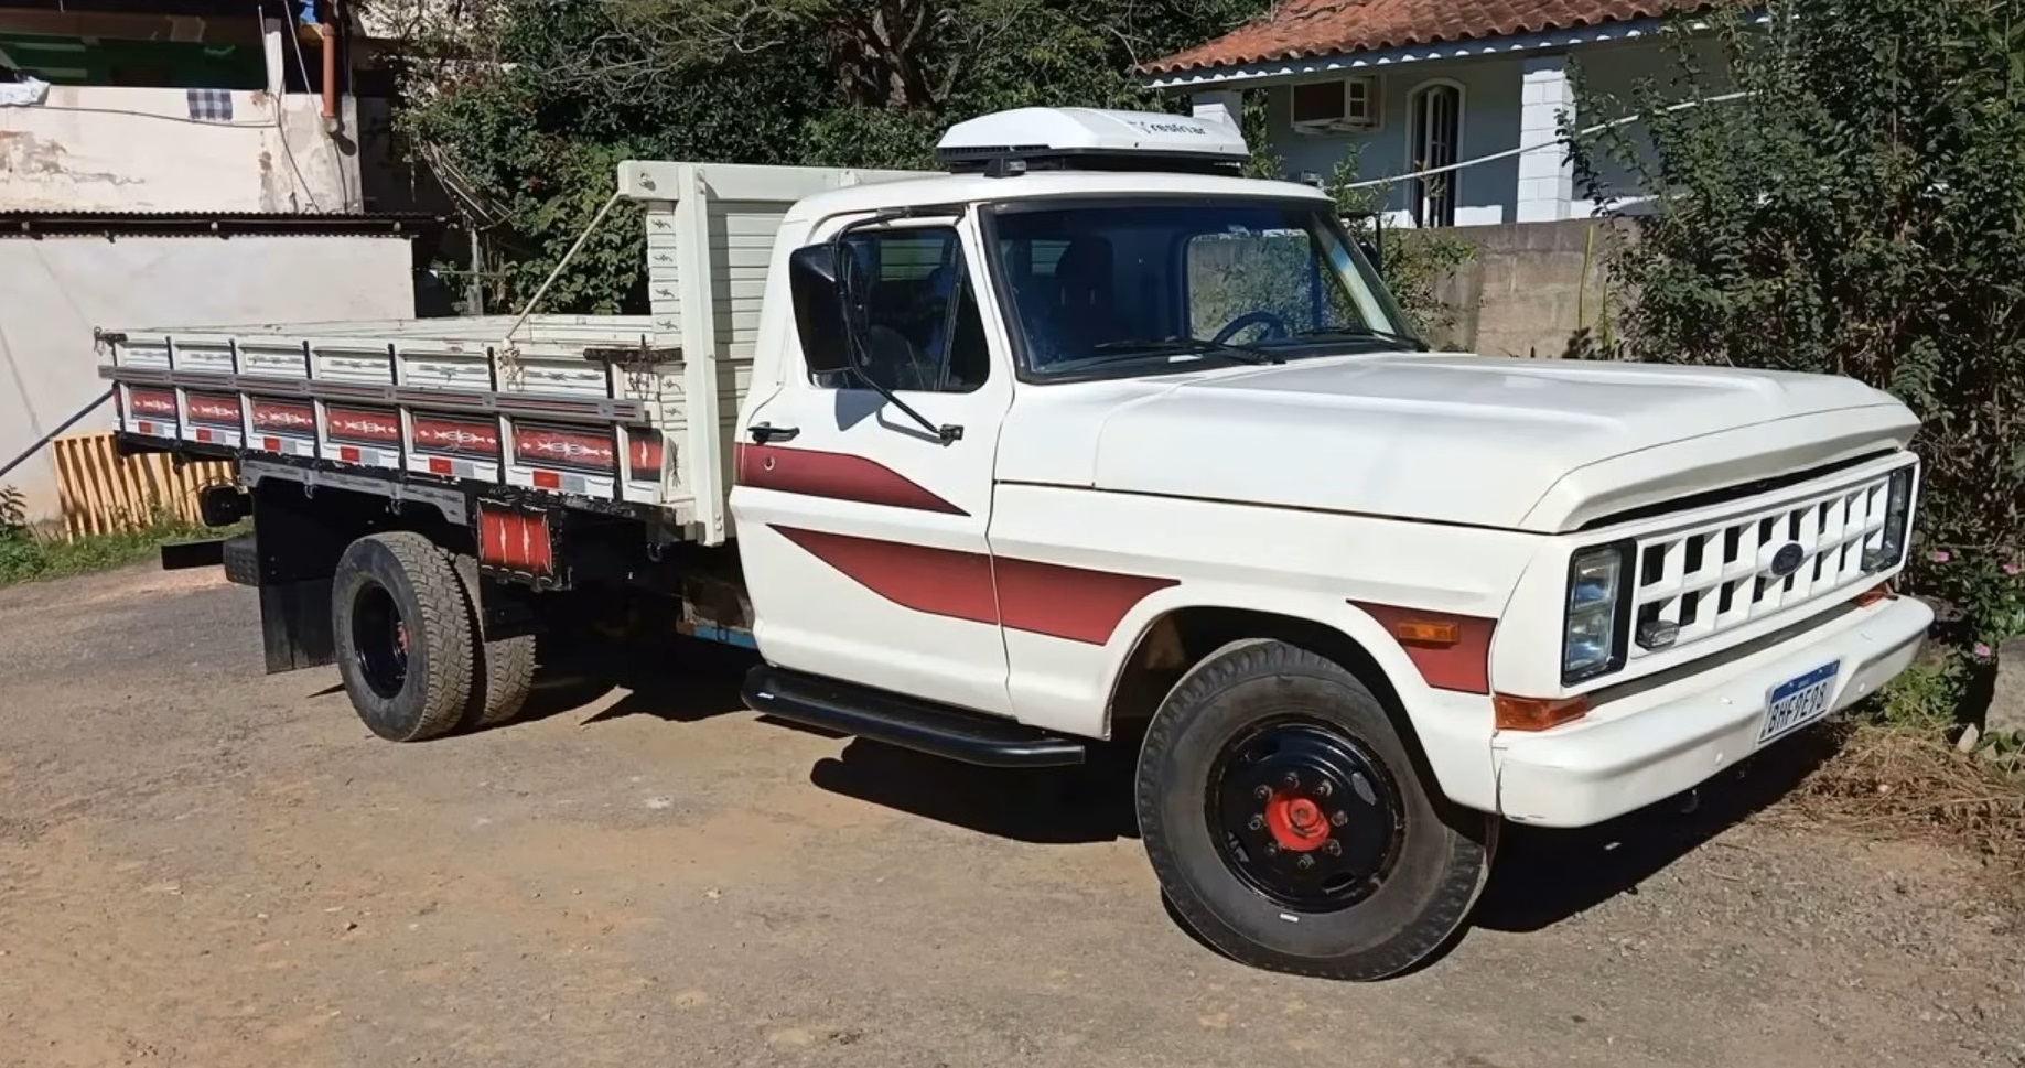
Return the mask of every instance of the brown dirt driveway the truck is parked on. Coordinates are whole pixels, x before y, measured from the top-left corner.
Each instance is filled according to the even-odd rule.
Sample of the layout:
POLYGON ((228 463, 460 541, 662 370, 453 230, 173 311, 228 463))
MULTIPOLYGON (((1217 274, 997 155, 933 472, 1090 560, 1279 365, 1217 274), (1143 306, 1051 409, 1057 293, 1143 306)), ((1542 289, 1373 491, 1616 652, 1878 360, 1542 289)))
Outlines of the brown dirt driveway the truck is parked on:
POLYGON ((2025 1064, 1974 863, 1701 809, 1513 835, 1403 979, 1189 938, 1104 798, 757 721, 743 667, 391 746, 253 594, 0 592, 6 1066, 2025 1064))

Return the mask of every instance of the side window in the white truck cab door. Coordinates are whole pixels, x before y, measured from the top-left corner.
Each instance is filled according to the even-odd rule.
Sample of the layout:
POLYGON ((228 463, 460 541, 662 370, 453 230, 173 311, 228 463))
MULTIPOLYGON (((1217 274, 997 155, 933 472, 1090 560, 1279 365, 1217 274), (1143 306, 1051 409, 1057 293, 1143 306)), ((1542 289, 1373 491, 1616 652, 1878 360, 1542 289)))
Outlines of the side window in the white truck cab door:
MULTIPOLYGON (((857 261, 865 375, 895 393, 968 393, 990 375, 984 320, 948 227, 859 231, 844 239, 857 261)), ((816 375, 826 389, 848 375, 816 375)))

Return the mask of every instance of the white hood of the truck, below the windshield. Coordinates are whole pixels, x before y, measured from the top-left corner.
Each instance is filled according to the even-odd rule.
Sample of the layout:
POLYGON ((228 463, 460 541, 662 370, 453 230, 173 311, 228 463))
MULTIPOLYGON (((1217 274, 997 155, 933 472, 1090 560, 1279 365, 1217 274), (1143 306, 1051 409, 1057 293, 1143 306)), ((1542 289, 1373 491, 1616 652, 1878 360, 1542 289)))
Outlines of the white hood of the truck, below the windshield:
POLYGON ((1845 377, 1646 363, 1359 355, 1102 385, 1027 391, 1000 450, 1027 470, 1000 478, 1565 531, 1918 430, 1845 377))

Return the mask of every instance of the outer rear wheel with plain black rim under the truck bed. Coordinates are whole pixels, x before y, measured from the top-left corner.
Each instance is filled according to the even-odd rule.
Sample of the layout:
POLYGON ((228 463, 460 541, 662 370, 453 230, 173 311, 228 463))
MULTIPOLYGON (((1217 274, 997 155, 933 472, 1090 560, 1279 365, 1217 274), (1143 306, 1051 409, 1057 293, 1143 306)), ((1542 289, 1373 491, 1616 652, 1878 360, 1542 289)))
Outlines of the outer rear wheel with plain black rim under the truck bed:
POLYGON ((391 742, 452 732, 472 701, 472 624, 450 557, 409 531, 360 537, 330 584, 338 675, 391 742))

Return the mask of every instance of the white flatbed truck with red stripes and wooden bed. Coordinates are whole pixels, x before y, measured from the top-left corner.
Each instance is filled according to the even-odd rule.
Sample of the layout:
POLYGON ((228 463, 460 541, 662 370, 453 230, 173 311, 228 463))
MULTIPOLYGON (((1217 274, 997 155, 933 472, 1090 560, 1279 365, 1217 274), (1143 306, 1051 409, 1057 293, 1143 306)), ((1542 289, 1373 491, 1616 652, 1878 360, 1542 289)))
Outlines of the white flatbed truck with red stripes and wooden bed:
POLYGON ((759 711, 992 766, 1142 738, 1231 957, 1393 975, 1503 821, 1592 825, 1875 691, 1914 415, 1841 377, 1428 353, 1235 130, 1023 109, 948 172, 626 162, 650 316, 101 328, 269 671, 510 719, 585 616, 751 644, 759 711), (565 622, 567 620, 567 622, 565 622))

